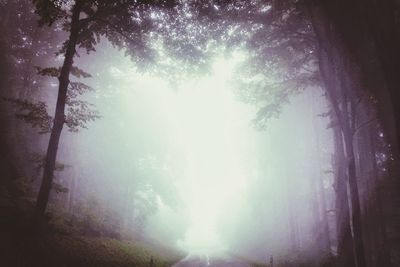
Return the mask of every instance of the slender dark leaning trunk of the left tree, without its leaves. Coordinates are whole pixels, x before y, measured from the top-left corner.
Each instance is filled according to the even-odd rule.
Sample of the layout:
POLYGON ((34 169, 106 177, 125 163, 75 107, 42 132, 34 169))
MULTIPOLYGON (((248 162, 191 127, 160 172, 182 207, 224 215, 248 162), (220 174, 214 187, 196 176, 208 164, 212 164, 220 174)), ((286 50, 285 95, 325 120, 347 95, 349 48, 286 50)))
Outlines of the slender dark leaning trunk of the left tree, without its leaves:
POLYGON ((35 216, 37 219, 43 218, 44 216, 52 187, 58 145, 60 142, 61 132, 65 123, 65 104, 67 100, 69 76, 76 52, 76 44, 79 37, 79 15, 81 13, 81 3, 81 1, 76 1, 75 6, 73 7, 70 36, 65 52, 64 63, 61 68, 61 73, 59 77, 58 97, 54 115, 53 128, 51 130, 49 145, 47 147, 43 178, 36 202, 35 216))

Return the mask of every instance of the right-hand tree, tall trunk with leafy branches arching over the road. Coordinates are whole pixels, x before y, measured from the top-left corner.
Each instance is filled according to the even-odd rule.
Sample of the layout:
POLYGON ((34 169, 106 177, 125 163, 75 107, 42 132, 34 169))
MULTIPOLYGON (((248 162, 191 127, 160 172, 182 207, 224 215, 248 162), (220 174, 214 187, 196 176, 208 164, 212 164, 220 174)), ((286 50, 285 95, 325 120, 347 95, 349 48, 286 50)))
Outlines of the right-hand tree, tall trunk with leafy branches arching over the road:
MULTIPOLYGON (((340 232, 339 243, 347 243, 353 239, 356 262, 358 266, 365 266, 362 203, 357 181, 357 155, 354 150, 355 129, 359 119, 358 102, 365 92, 362 86, 364 81, 360 79, 363 71, 357 60, 354 60, 359 57, 355 44, 348 43, 350 39, 342 40, 341 33, 336 29, 332 30, 329 24, 341 23, 338 28, 351 35, 352 32, 346 28, 346 25, 352 24, 351 17, 347 17, 346 13, 345 18, 348 20, 344 23, 340 14, 347 7, 353 10, 354 3, 347 6, 344 2, 327 4, 328 2, 290 0, 228 1, 228 4, 211 2, 208 6, 203 2, 203 5, 207 6, 206 12, 217 13, 213 18, 218 17, 218 14, 228 14, 245 24, 239 25, 238 31, 242 31, 243 39, 247 40, 243 42, 248 44, 251 60, 243 64, 244 75, 241 78, 244 82, 240 86, 244 88, 242 95, 246 100, 261 106, 256 118, 258 125, 263 127, 270 117, 279 115, 282 104, 287 102, 291 94, 309 86, 322 86, 326 91, 334 120, 340 129, 336 136, 343 139, 338 144, 344 146, 345 152, 345 159, 338 161, 340 165, 344 165, 344 173, 338 176, 341 189, 337 195, 339 201, 344 201, 343 205, 338 203, 337 206, 338 216, 344 220, 338 222, 345 224, 343 229, 346 229, 340 232), (224 12, 213 11, 210 8, 213 5, 223 6, 225 9, 217 10, 223 9, 224 12), (321 13, 321 9, 325 13, 321 13), (332 15, 335 17, 331 18, 332 15), (352 45, 352 50, 348 49, 349 45, 352 45), (346 216, 349 209, 346 201, 347 183, 350 189, 351 216, 346 216), (354 238, 351 236, 351 226, 354 238)), ((360 35, 358 37, 357 42, 363 42, 364 39, 360 35)), ((368 58, 366 54, 363 56, 364 60, 368 58)), ((364 65, 368 64, 365 62, 364 65)), ((372 105, 369 107, 373 108, 372 105)), ((341 157, 339 154, 337 156, 341 157)), ((342 226, 338 226, 338 229, 342 229, 342 226)), ((340 247, 344 248, 343 253, 346 254, 350 246, 340 247)), ((352 263, 348 261, 348 264, 351 266, 352 263)))

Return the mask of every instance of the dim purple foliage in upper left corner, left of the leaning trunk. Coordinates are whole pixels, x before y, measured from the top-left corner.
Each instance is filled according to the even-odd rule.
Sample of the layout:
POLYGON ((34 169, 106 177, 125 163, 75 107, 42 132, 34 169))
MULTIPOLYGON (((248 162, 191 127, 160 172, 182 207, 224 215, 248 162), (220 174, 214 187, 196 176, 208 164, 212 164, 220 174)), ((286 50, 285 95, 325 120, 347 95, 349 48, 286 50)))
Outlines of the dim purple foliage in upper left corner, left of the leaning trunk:
POLYGON ((7 59, 3 68, 8 69, 3 77, 8 90, 1 92, 2 96, 32 101, 48 86, 46 77, 37 76, 34 66, 53 61, 62 33, 57 25, 52 30, 37 27, 38 17, 32 11, 29 0, 0 2, 0 31, 7 59))

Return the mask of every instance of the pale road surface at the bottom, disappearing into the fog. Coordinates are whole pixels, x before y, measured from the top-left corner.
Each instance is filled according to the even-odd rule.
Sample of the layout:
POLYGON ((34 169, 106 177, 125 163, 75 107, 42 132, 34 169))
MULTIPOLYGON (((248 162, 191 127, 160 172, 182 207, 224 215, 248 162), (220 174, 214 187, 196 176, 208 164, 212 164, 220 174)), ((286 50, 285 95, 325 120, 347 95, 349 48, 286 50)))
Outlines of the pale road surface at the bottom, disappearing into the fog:
POLYGON ((189 255, 172 267, 250 267, 250 265, 228 256, 189 255))

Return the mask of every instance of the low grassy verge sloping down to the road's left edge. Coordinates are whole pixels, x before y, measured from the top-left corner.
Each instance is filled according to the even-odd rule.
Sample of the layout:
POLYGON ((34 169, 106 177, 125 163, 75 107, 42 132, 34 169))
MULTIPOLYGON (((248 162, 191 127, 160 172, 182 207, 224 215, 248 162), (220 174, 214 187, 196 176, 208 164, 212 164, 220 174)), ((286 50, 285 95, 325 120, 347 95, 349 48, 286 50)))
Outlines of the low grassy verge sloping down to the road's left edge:
POLYGON ((3 249, 8 248, 7 255, 2 255, 0 261, 7 264, 1 266, 144 267, 150 266, 153 257, 154 267, 167 267, 183 256, 172 249, 144 242, 58 233, 19 238, 9 236, 8 241, 9 246, 3 244, 3 249))

